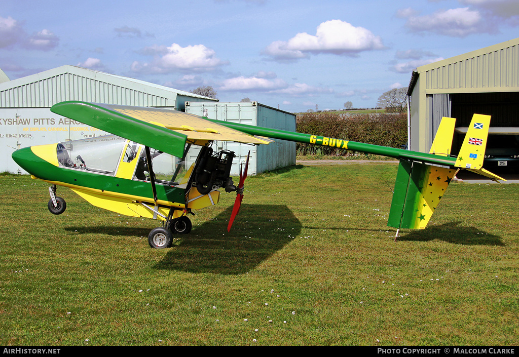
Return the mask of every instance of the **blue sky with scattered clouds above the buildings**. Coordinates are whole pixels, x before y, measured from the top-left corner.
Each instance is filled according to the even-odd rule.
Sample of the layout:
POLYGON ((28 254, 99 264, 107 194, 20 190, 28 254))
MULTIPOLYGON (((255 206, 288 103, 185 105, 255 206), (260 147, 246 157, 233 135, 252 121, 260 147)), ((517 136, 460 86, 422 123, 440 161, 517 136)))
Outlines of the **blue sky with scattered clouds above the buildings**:
POLYGON ((413 68, 519 37, 517 0, 2 0, 10 79, 65 64, 289 112, 373 107, 413 68))

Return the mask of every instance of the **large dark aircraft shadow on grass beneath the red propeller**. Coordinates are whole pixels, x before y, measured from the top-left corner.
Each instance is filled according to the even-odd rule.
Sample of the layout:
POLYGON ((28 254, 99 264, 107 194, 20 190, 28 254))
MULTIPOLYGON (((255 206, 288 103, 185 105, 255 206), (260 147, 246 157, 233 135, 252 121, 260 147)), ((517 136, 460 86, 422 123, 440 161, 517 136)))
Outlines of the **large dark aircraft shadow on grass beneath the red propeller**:
POLYGON ((194 226, 188 235, 174 235, 177 245, 154 268, 242 274, 254 269, 301 232, 301 222, 292 211, 285 205, 275 204, 242 204, 233 228, 227 232, 232 209, 228 207, 216 217, 194 226))

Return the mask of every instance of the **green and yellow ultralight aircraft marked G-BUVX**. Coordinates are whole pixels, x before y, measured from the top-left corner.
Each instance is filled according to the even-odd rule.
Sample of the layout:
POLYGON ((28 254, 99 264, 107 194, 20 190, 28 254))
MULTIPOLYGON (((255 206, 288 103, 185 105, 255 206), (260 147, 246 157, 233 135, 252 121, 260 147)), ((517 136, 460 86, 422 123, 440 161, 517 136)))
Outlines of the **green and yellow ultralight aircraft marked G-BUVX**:
MULTIPOLYGON (((120 214, 159 219, 149 245, 167 248, 172 233, 187 234, 188 214, 218 202, 220 191, 236 191, 227 229, 239 211, 249 156, 236 186, 230 177, 236 157, 230 150, 214 152, 215 141, 260 145, 271 139, 355 150, 400 160, 388 226, 427 226, 445 189, 459 169, 493 180, 501 177, 482 168, 490 117, 474 114, 457 157, 450 156, 455 119, 443 118, 430 153, 356 143, 325 136, 218 121, 150 107, 68 101, 51 111, 112 133, 64 143, 17 150, 12 158, 33 178, 50 183, 49 211, 61 214, 66 203, 56 186, 71 188, 91 204, 120 214), (174 167, 171 179, 159 178, 161 164, 174 167)), ((169 177, 169 176, 168 176, 169 177)))

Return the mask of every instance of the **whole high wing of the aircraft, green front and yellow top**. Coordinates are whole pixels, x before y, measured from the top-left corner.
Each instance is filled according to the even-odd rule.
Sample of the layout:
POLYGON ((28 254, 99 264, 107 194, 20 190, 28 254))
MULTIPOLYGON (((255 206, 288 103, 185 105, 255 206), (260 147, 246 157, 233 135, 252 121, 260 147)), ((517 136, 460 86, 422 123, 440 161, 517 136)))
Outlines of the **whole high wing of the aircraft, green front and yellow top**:
POLYGON ((69 101, 54 104, 50 110, 176 157, 182 157, 186 143, 205 145, 215 140, 248 144, 272 142, 170 109, 69 101))

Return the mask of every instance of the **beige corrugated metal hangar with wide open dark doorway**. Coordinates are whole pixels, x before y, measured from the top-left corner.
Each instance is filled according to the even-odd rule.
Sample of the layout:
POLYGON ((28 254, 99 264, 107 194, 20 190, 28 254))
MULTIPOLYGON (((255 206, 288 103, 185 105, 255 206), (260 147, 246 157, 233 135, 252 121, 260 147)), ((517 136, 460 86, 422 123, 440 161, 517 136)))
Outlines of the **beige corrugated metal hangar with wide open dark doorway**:
POLYGON ((519 171, 519 38, 413 71, 409 149, 428 152, 442 117, 456 118, 457 155, 472 115, 491 116, 484 167, 519 171))

